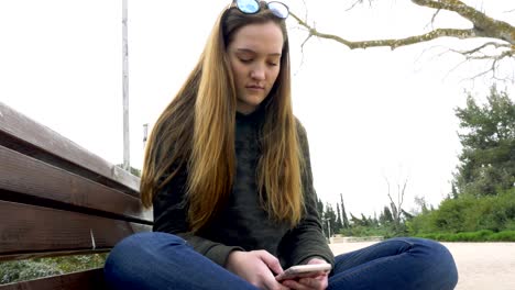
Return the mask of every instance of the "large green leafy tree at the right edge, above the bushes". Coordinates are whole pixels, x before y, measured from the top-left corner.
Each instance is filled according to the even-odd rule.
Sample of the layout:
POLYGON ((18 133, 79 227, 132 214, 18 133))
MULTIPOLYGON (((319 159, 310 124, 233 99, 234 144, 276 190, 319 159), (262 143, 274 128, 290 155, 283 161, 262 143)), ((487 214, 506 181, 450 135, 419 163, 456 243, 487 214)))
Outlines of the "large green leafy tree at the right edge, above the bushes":
POLYGON ((462 152, 454 174, 459 193, 493 196, 515 183, 515 104, 495 86, 486 103, 469 93, 467 105, 456 109, 462 152))

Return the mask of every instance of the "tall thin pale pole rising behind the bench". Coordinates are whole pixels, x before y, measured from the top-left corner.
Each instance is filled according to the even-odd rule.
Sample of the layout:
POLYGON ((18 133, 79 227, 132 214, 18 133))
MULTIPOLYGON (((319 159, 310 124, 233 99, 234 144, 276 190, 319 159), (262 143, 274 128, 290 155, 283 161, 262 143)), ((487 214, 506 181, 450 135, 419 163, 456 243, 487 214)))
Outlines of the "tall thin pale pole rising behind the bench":
POLYGON ((130 145, 129 145, 129 47, 127 29, 127 0, 122 0, 122 57, 123 57, 123 169, 130 171, 130 145))

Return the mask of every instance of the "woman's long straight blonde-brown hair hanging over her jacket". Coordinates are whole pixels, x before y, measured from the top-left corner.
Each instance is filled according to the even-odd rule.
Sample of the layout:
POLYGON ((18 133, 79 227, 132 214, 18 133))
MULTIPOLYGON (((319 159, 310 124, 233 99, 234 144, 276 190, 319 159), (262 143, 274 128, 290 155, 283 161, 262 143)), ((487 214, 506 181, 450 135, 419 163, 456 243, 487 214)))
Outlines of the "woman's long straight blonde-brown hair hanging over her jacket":
POLYGON ((231 8, 218 18, 198 64, 158 118, 144 157, 141 199, 145 207, 152 205, 154 196, 179 170, 187 170, 185 190, 193 232, 223 207, 234 181, 237 94, 226 47, 242 26, 270 21, 281 27, 284 45, 280 75, 261 104, 265 118, 260 133, 258 186, 271 219, 295 226, 304 213, 304 159, 292 110, 286 25, 263 9, 263 3, 256 14, 231 8))

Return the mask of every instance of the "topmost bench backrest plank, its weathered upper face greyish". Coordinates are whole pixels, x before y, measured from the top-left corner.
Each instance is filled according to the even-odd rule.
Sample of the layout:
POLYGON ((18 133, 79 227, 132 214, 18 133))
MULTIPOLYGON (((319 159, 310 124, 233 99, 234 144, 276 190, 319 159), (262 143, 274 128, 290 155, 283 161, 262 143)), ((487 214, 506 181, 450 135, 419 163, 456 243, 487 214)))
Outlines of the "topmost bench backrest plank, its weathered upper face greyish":
MULTIPOLYGON (((139 192, 140 179, 0 102, 0 141, 26 142, 139 192), (17 141, 8 138, 15 138, 17 141)), ((23 146, 22 144, 18 144, 23 146)))

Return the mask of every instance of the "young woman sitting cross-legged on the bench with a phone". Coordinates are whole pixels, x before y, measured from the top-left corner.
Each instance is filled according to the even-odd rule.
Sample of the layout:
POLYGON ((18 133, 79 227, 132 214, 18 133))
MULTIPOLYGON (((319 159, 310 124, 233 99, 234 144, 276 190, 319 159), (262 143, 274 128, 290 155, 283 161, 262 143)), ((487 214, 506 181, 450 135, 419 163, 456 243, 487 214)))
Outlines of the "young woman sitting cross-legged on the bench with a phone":
POLYGON ((164 110, 141 179, 154 232, 120 242, 113 289, 452 289, 450 253, 395 238, 333 257, 321 232, 306 132, 292 112, 281 2, 234 0, 164 110), (332 271, 277 281, 283 269, 332 271))

